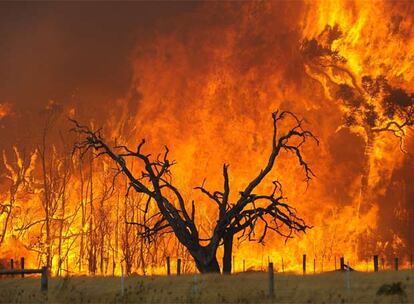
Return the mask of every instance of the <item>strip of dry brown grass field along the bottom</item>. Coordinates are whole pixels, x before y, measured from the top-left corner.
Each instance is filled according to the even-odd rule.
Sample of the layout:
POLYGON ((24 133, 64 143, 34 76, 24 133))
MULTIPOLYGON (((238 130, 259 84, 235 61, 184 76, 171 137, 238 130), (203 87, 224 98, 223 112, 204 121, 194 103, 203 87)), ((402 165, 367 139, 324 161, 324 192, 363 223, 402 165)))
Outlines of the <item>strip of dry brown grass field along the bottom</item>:
POLYGON ((275 273, 273 298, 267 273, 127 277, 123 294, 119 277, 52 278, 47 294, 39 288, 39 278, 1 278, 0 303, 414 303, 414 271, 275 273))

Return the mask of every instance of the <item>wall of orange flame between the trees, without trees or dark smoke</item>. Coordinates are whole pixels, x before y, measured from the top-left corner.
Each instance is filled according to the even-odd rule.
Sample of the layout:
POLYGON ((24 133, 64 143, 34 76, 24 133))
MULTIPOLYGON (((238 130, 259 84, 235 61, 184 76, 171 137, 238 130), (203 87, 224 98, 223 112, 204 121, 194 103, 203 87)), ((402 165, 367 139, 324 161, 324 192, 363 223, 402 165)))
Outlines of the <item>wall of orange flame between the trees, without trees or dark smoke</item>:
MULTIPOLYGON (((69 114, 91 119, 94 125, 104 126, 108 139, 117 142, 134 146, 145 137, 148 151, 156 153, 163 145, 170 147, 171 157, 177 161, 174 183, 188 201, 196 200, 197 222, 207 236, 216 211, 212 202, 193 188, 206 178, 209 189, 219 189, 221 166, 229 163, 231 191, 236 197, 266 162, 270 113, 279 108, 295 112, 306 118, 307 127, 321 141, 319 147, 305 148, 317 177, 307 187, 299 166, 289 155, 282 155, 271 178, 283 183, 291 204, 314 228, 287 243, 275 235, 269 235, 264 245, 237 242, 236 271, 241 270, 242 260, 247 268, 264 267, 272 260, 281 269, 282 259, 285 271, 300 271, 305 253, 315 259, 317 271, 332 270, 339 256, 345 256, 357 269, 371 269, 373 254, 390 263, 392 257, 406 258, 414 250, 409 235, 414 211, 410 189, 412 136, 408 131, 407 154, 400 151, 393 136, 381 134, 377 138, 369 159, 370 197, 362 200, 366 138, 356 129, 343 127, 341 104, 329 94, 327 84, 311 73, 300 46, 303 39, 317 37, 327 25, 338 25, 343 35, 332 47, 347 59, 347 69, 357 79, 385 75, 394 86, 412 91, 413 15, 410 2, 205 3, 179 18, 159 21, 153 35, 137 42, 131 55, 129 89, 102 111, 105 114, 94 117, 93 113, 80 112, 81 102, 76 97, 59 113, 62 117, 69 114)), ((343 75, 335 77, 347 81, 341 79, 343 75)), ((9 107, 1 105, 0 121, 9 113, 9 107)), ((57 124, 67 127, 66 122, 57 124)), ((59 172, 64 166, 62 151, 68 150, 68 145, 52 133, 51 144, 56 148, 50 149, 49 158, 51 164, 56 162, 54 168, 59 172)), ((13 157, 14 162, 5 156, 4 163, 21 166, 22 153, 16 152, 13 157)), ((38 164, 36 159, 32 162, 38 164)), ((73 162, 74 168, 79 167, 79 161, 73 162)), ((92 223, 81 222, 79 208, 85 208, 87 214, 90 212, 88 218, 93 214, 94 229, 100 229, 94 242, 104 235, 104 273, 112 273, 114 264, 125 263, 126 243, 131 243, 131 248, 142 244, 136 228, 120 224, 125 217, 139 220, 142 201, 139 197, 123 198, 122 178, 110 198, 101 199, 113 173, 109 162, 95 160, 95 209, 90 211, 87 189, 83 196, 79 194, 78 173, 83 170, 87 176, 86 167, 83 164, 77 173, 74 169, 69 180, 72 191, 65 194, 66 216, 59 213, 60 207, 56 211, 61 219, 73 215, 64 221, 63 228, 66 270, 87 272, 86 256, 83 262, 79 257, 79 235, 83 232, 87 237, 92 223)), ((4 202, 9 199, 7 189, 13 181, 13 170, 6 167, 5 171, 9 174, 2 187, 4 202)), ((35 182, 40 178, 37 171, 32 177, 34 190, 21 189, 13 224, 0 245, 0 257, 17 259, 25 255, 33 265, 44 261, 44 228, 41 224, 24 231, 20 228, 41 219, 44 212, 42 190, 35 182)), ((270 181, 263 190, 269 188, 270 181)), ((53 241, 55 255, 57 242, 53 241)), ((154 246, 141 252, 152 273, 165 272, 166 255, 190 260, 171 236, 160 238, 154 246)), ((133 271, 142 272, 138 247, 134 249, 133 271)), ((53 265, 56 269, 56 260, 53 265)), ((193 264, 189 261, 187 267, 192 269, 193 264)), ((114 269, 115 273, 120 271, 119 266, 114 269)))

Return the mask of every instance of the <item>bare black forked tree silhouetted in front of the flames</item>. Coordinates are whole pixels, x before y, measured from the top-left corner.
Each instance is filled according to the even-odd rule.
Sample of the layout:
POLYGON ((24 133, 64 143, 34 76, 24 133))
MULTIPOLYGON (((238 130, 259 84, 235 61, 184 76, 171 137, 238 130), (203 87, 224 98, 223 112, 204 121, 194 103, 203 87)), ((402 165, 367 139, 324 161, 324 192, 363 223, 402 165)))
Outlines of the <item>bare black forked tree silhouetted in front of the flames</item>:
POLYGON ((204 185, 196 187, 211 200, 218 209, 214 229, 208 238, 201 238, 196 225, 196 206, 193 200, 187 204, 183 195, 172 183, 171 167, 175 164, 169 160, 169 149, 165 147, 162 155, 154 158, 143 152, 145 140, 135 150, 124 145, 110 145, 104 140, 100 130, 91 130, 87 126, 73 121, 75 132, 83 139, 75 145, 81 155, 88 150, 96 151, 97 156, 108 156, 117 165, 118 173, 124 174, 129 181, 127 194, 131 189, 146 197, 145 214, 142 222, 129 222, 138 225, 141 236, 146 240, 159 234, 174 233, 178 241, 189 251, 201 273, 220 272, 217 250, 224 245, 223 272, 231 271, 233 238, 258 240, 263 242, 267 232, 274 231, 286 239, 294 233, 306 232, 310 228, 300 218, 296 209, 286 202, 282 185, 273 181, 273 190, 268 194, 256 193, 258 186, 265 180, 275 166, 276 159, 282 151, 291 152, 303 168, 308 183, 314 176, 304 160, 302 147, 309 139, 318 143, 317 138, 303 128, 303 120, 288 111, 276 111, 273 118, 272 149, 267 165, 239 192, 233 200, 230 197, 229 166, 223 165, 223 189, 209 191, 204 185), (282 131, 279 124, 289 119, 293 126, 282 131), (142 165, 138 176, 132 170, 129 161, 136 160, 142 165), (259 235, 256 238, 256 234, 259 235))

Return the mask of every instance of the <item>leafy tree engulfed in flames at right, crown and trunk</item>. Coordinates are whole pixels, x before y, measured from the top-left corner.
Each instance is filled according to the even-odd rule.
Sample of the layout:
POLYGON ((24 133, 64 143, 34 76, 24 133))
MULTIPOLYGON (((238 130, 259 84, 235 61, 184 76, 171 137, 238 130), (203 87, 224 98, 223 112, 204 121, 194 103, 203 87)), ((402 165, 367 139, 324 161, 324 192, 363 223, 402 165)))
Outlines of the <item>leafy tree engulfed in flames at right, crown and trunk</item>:
MULTIPOLYGON (((391 36, 395 34, 392 28, 388 30, 391 36)), ((408 129, 414 126, 414 94, 401 87, 402 74, 396 77, 390 68, 369 68, 370 64, 381 67, 382 62, 376 64, 375 60, 365 58, 362 64, 367 66, 364 70, 369 72, 358 72, 352 65, 353 58, 346 58, 341 53, 340 46, 346 38, 339 25, 326 25, 316 37, 303 40, 301 52, 308 75, 322 85, 330 100, 337 102, 343 120, 340 128, 348 128, 364 140, 363 167, 355 208, 355 217, 360 221, 375 210, 375 189, 384 182, 384 177, 381 183, 375 181, 373 167, 378 151, 381 154, 385 152, 380 145, 384 135, 396 137, 400 150, 405 152, 404 140, 408 129), (392 78, 394 82, 390 81, 392 78)), ((361 255, 384 250, 381 244, 388 241, 372 241, 376 239, 375 228, 365 223, 357 226, 360 231, 355 235, 354 242, 363 244, 357 246, 361 255), (372 248, 370 253, 368 248, 372 248)))

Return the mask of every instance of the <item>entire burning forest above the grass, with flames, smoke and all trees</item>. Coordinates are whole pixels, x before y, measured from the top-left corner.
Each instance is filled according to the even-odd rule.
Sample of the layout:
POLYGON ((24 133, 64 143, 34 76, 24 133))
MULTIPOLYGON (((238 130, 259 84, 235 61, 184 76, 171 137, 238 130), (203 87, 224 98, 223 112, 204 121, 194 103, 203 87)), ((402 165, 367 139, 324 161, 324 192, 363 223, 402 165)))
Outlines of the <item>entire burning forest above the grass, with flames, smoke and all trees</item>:
POLYGON ((3 267, 409 265, 414 3, 1 7, 3 267))

